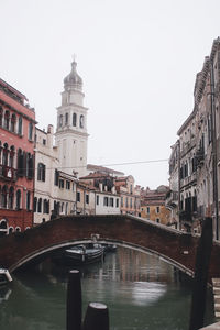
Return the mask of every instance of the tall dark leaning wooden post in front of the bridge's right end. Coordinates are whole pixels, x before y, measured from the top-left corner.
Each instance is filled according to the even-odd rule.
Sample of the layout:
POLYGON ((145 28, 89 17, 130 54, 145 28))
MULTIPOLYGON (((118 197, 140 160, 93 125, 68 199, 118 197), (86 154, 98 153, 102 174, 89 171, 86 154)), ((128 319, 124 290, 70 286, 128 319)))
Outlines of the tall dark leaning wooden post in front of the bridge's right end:
POLYGON ((198 330, 204 327, 212 235, 212 219, 206 218, 197 248, 189 330, 198 330))

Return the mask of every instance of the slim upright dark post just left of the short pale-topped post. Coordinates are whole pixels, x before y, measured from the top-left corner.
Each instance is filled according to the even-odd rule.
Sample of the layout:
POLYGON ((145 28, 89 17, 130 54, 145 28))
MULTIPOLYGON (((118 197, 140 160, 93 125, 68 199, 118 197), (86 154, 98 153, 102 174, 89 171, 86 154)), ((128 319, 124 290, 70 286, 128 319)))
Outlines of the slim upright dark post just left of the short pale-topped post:
POLYGON ((79 271, 70 271, 68 275, 66 329, 81 330, 81 280, 79 271))

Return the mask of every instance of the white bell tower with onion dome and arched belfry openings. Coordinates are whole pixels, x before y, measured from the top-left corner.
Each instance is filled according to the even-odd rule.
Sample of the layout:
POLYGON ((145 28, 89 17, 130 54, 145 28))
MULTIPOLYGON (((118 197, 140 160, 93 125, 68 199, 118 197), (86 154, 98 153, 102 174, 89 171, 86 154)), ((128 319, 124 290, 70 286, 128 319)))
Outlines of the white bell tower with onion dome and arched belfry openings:
POLYGON ((72 72, 64 79, 62 106, 57 108, 56 145, 61 169, 77 177, 87 174, 87 111, 84 107, 82 79, 72 63, 72 72))

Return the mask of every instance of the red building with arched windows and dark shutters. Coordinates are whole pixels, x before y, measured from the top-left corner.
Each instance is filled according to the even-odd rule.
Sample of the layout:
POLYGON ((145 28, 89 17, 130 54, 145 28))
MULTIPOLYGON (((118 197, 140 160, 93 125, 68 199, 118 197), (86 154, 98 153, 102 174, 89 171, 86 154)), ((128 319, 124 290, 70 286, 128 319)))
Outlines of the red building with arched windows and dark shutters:
POLYGON ((35 111, 0 79, 0 233, 33 226, 35 111))

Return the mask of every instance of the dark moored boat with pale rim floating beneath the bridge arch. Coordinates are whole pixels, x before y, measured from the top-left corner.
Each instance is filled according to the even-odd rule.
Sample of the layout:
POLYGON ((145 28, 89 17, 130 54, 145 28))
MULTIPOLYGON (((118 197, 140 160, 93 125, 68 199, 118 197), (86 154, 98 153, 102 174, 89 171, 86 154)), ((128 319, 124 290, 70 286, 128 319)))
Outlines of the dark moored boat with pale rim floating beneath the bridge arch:
POLYGON ((103 253, 105 249, 99 244, 81 244, 66 249, 63 253, 62 261, 68 265, 90 264, 103 260, 103 253))

